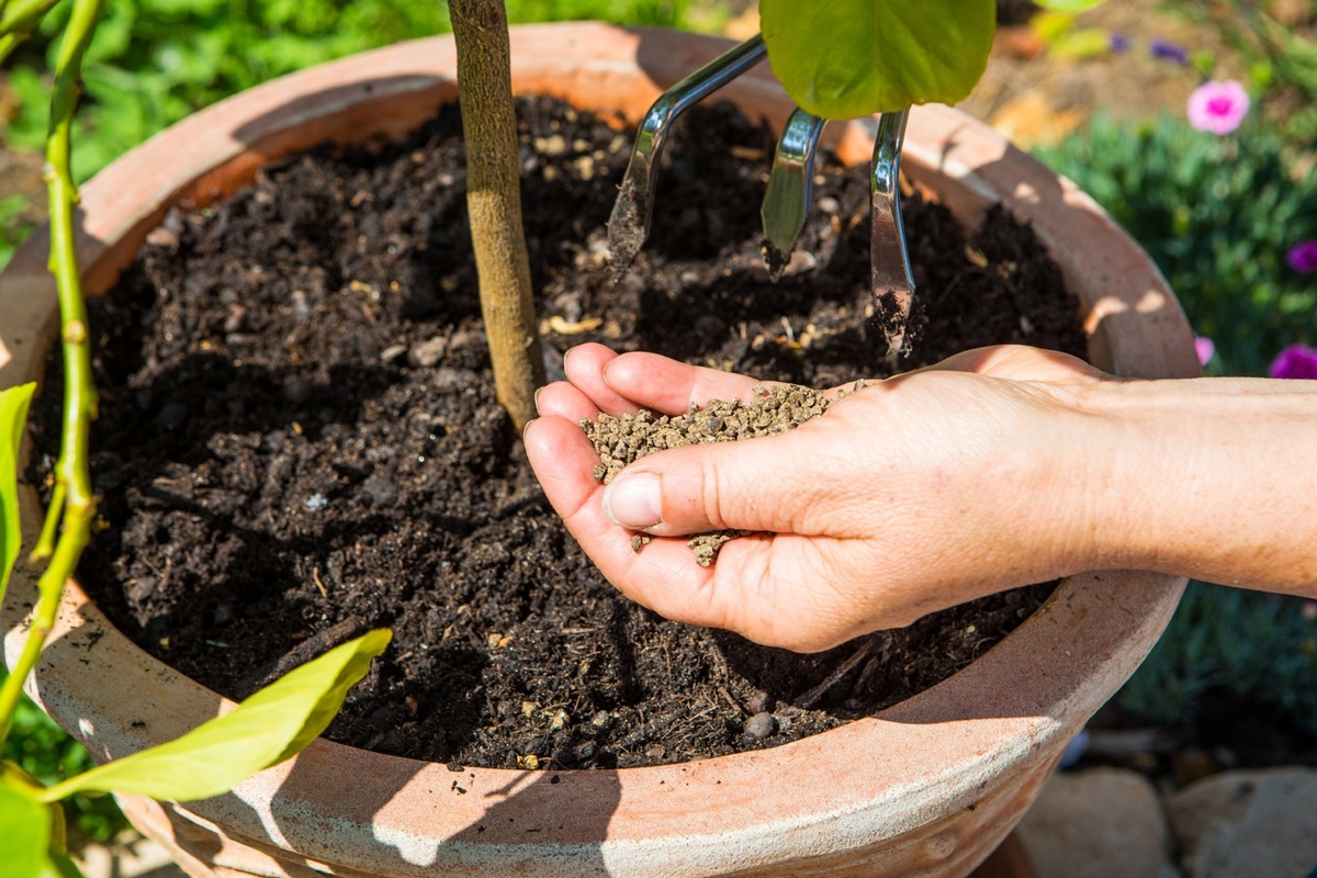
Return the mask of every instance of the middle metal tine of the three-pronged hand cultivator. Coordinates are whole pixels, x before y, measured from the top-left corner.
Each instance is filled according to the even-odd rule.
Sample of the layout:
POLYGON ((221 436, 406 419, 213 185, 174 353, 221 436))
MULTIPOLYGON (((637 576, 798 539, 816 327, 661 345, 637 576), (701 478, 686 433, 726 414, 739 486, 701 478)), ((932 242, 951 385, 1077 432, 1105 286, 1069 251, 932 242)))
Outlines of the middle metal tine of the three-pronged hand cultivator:
POLYGON ((797 108, 786 120, 782 137, 777 141, 773 171, 769 174, 768 191, 764 192, 764 204, 759 212, 766 238, 764 249, 768 271, 773 280, 782 275, 782 269, 786 267, 795 246, 795 238, 805 228, 805 217, 810 212, 814 153, 824 121, 797 108))

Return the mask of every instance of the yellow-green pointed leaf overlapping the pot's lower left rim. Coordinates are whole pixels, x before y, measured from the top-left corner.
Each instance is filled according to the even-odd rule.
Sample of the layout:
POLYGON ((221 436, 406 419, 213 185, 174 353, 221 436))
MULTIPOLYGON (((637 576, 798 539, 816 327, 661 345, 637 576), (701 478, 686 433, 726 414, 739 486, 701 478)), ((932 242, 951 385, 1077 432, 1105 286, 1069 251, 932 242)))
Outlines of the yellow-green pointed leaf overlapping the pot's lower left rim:
POLYGON ((348 690, 385 652, 386 629, 371 631, 303 665, 245 699, 232 712, 180 738, 115 760, 50 787, 46 800, 111 790, 187 802, 227 792, 282 762, 329 725, 348 690))

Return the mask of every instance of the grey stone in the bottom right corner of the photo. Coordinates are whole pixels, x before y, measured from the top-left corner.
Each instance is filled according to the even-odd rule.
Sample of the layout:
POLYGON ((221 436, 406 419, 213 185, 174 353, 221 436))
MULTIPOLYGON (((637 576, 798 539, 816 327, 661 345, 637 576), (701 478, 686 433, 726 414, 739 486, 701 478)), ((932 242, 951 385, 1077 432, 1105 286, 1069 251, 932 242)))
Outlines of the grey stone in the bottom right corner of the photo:
POLYGON ((1293 875, 1317 866, 1317 769, 1223 771, 1167 803, 1187 878, 1293 875))

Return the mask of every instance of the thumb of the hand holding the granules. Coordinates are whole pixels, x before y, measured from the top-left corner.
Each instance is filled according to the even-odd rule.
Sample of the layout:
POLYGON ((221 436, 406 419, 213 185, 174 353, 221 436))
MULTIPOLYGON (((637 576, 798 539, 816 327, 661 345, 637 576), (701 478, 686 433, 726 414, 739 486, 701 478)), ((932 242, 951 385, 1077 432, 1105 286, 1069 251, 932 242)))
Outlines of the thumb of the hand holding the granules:
POLYGON ((809 458, 795 452, 797 436, 651 454, 608 483, 603 511, 614 524, 660 537, 727 529, 793 533, 809 505, 809 487, 818 484, 802 478, 799 462, 809 458))

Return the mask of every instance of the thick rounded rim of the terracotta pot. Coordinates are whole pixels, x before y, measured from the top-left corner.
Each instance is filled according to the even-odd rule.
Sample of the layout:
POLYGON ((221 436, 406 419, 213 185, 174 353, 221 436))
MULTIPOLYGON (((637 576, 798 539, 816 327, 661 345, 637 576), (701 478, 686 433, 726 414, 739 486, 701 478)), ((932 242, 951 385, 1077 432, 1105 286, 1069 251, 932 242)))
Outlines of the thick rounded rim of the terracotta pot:
MULTIPOLYGON (((582 82, 606 88, 624 67, 633 68, 633 58, 640 55, 641 66, 666 84, 676 78, 673 71, 689 70, 691 59, 711 57, 723 46, 726 41, 715 38, 599 24, 524 26, 514 29, 514 59, 525 59, 515 62, 514 75, 522 80, 548 78, 556 83, 551 91, 579 88, 582 82), (591 43, 590 63, 585 65, 585 72, 578 68, 569 76, 570 82, 564 82, 553 58, 544 59, 545 51, 570 55, 585 41, 591 43), (668 55, 672 58, 664 62, 668 55), (647 57, 648 66, 644 63, 647 57)), ((354 107, 369 91, 394 104, 450 95, 450 76, 444 71, 452 68, 452 58, 450 38, 436 37, 323 65, 202 111, 133 150, 84 188, 86 225, 91 237, 83 241, 83 247, 87 265, 92 266, 88 286, 104 287, 122 262, 122 254, 107 254, 94 238, 137 236, 130 247, 136 250, 145 234, 141 226, 148 220, 144 216, 158 219, 180 195, 200 196, 208 187, 217 187, 212 172, 216 165, 237 167, 250 161, 245 158, 244 141, 255 145, 258 153, 277 154, 283 143, 281 132, 288 128, 291 118, 337 118, 333 113, 346 112, 342 108, 354 107), (324 88, 341 96, 338 109, 328 115, 324 105, 312 99, 324 88), (196 132, 216 122, 224 126, 221 130, 227 130, 228 137, 220 146, 215 142, 199 145, 196 132), (184 167, 183 159, 169 155, 190 151, 204 154, 209 165, 184 167), (134 179, 148 180, 150 201, 145 212, 125 207, 134 179)), ((656 91, 653 83, 647 87, 656 91)), ((774 113, 785 116, 786 104, 764 70, 739 80, 726 93, 753 105, 766 101, 774 113)), ((852 125, 836 136, 838 149, 852 153, 863 149, 863 128, 852 125), (856 147, 852 141, 861 146, 856 147)), ((187 161, 194 159, 188 157, 187 161)), ((1196 373, 1192 333, 1173 294, 1137 245, 1073 186, 1013 150, 984 125, 943 107, 918 108, 913 113, 907 167, 913 175, 930 179, 939 167, 948 170, 952 188, 959 187, 959 195, 948 203, 960 212, 981 209, 988 196, 1000 197, 1026 217, 1059 209, 1060 222, 1039 225, 1039 232, 1054 249, 1068 254, 1068 261, 1063 261, 1068 278, 1073 280, 1083 272, 1087 279, 1089 288, 1081 291, 1081 296, 1090 332, 1098 340, 1096 345, 1110 354, 1108 365, 1133 375, 1196 373), (946 146, 943 141, 948 137, 951 145, 946 146), (1069 240, 1076 234, 1081 247, 1069 240), (1114 255, 1088 254, 1096 247, 1094 241, 1110 245, 1114 255), (1139 353, 1134 350, 1135 342, 1151 344, 1156 350, 1139 353)), ((41 267, 38 237, 34 236, 0 274, 0 290, 4 291, 0 299, 29 301, 17 324, 0 328, 0 386, 22 380, 24 376, 14 373, 20 367, 30 373, 40 362, 38 337, 53 337, 53 294, 41 267)), ((0 308, 7 307, 0 301, 0 308)), ((40 521, 34 491, 29 488, 24 496, 26 540, 40 521)), ((20 567, 4 609, 11 654, 25 615, 18 595, 28 594, 32 584, 32 571, 20 567)), ((1043 770, 1155 642, 1183 586, 1179 578, 1137 571, 1071 577, 1043 609, 947 681, 876 717, 770 750, 641 769, 557 773, 465 769, 456 773, 439 763, 367 753, 320 740, 295 761, 257 775, 233 794, 196 803, 190 810, 203 819, 234 821, 240 833, 274 827, 290 845, 306 850, 309 844, 320 853, 324 845, 335 849, 335 827, 346 828, 362 820, 369 825, 374 820, 371 832, 382 845, 398 850, 399 869, 444 862, 469 867, 473 874, 486 874, 481 871, 485 867, 491 869, 489 874, 498 874, 508 861, 547 856, 544 842, 549 839, 527 844, 524 835, 519 835, 522 828, 514 832, 491 825, 487 832, 473 832, 481 815, 493 807, 489 806, 491 796, 495 803, 518 799, 539 808, 548 821, 562 816, 568 802, 611 802, 602 825, 562 816, 562 825, 547 833, 556 839, 549 848, 557 852, 553 857, 570 858, 581 845, 591 850, 606 845, 618 864, 631 864, 627 869, 636 867, 640 861, 652 867, 691 845, 706 850, 710 874, 718 857, 726 860, 722 866, 735 866, 735 857, 741 854, 715 856, 711 848, 703 846, 709 839, 726 837, 730 831, 743 832, 763 856, 788 846, 798 848, 810 833, 824 827, 843 841, 860 844, 867 837, 910 832, 926 824, 932 813, 946 815, 948 810, 990 799, 1005 783, 1004 774, 1043 770), (817 799, 793 803, 789 813, 776 811, 772 794, 780 792, 784 783, 778 767, 798 760, 823 766, 811 769, 827 775, 823 791, 817 799), (551 781, 554 774, 557 779, 551 781), (316 786, 324 777, 333 781, 329 794, 316 786), (367 777, 386 786, 392 783, 390 798, 365 806, 354 802, 362 786, 357 778, 367 777), (707 815, 697 808, 710 795, 726 800, 718 825, 710 825, 707 815), (403 803, 410 806, 417 800, 428 803, 420 815, 403 807, 403 803), (283 816, 275 816, 271 802, 278 802, 283 816), (665 821, 666 846, 656 854, 649 840, 660 821, 665 821), (316 833, 328 833, 329 841, 316 833), (599 841, 602 837, 607 841, 599 841), (643 840, 645 846, 641 846, 643 840), (498 854, 504 857, 499 860, 502 866, 485 862, 485 857, 493 856, 489 852, 495 844, 504 852, 498 854)), ((166 667, 113 629, 80 588, 70 590, 61 625, 61 640, 30 688, 99 758, 136 750, 148 744, 149 733, 178 733, 223 710, 225 702, 217 695, 166 667), (116 657, 113 662, 105 658, 109 653, 116 657), (121 674, 126 661, 132 677, 145 681, 140 698, 88 707, 79 700, 86 696, 71 690, 79 671, 86 671, 79 669, 65 675, 53 665, 61 656, 91 665, 105 662, 107 670, 117 667, 121 674), (175 691, 183 692, 178 700, 173 700, 175 691), (153 700, 163 699, 165 694, 171 699, 167 710, 178 708, 176 715, 165 717, 163 702, 153 700), (62 704, 76 706, 76 711, 62 712, 62 704), (134 712, 150 710, 153 704, 161 715, 146 723, 150 728, 134 728, 133 720, 144 719, 134 712)), ((552 874, 553 866, 549 864, 544 869, 544 874, 552 874)), ((618 874, 643 874, 627 871, 620 865, 619 869, 618 874)))

